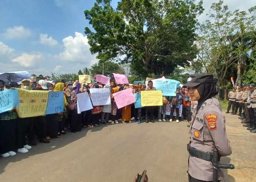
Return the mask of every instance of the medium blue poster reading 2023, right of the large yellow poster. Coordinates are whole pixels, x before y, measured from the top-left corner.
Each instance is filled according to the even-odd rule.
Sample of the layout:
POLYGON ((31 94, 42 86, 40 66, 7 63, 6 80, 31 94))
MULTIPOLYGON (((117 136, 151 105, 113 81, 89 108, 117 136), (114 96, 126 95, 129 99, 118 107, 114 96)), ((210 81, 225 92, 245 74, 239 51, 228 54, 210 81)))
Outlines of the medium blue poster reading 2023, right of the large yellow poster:
POLYGON ((64 112, 64 93, 59 92, 49 92, 48 104, 45 114, 54 114, 64 112))

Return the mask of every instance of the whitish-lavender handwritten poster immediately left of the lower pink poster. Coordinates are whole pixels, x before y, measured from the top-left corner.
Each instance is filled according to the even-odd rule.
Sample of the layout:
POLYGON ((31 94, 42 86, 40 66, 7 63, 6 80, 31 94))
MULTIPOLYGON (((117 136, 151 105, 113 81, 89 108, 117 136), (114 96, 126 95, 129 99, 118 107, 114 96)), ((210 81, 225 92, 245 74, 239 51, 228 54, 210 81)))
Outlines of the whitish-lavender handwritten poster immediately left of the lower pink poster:
POLYGON ((110 90, 108 88, 90 88, 93 106, 110 105, 110 90))

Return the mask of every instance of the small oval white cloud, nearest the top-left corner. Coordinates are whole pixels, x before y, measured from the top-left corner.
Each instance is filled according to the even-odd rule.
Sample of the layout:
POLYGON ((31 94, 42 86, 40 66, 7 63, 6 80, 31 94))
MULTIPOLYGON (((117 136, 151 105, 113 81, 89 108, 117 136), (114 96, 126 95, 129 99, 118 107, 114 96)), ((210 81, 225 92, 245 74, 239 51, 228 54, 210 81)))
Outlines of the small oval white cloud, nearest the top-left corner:
POLYGON ((5 33, 2 34, 6 39, 24 39, 32 35, 28 28, 23 26, 7 28, 5 33))

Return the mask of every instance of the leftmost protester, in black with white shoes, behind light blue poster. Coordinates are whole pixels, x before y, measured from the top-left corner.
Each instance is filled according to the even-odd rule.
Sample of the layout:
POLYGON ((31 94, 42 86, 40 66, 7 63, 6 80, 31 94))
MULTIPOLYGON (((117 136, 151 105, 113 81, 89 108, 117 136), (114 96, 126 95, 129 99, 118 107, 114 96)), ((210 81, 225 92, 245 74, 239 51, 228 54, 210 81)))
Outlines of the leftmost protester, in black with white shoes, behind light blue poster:
MULTIPOLYGON (((15 87, 15 82, 5 83, 4 90, 8 90, 15 87)), ((1 91, 2 95, 4 91, 1 91)), ((16 155, 16 142, 15 142, 15 130, 16 130, 17 113, 15 107, 9 111, 0 113, 0 155, 2 157, 8 157, 10 155, 16 155)))

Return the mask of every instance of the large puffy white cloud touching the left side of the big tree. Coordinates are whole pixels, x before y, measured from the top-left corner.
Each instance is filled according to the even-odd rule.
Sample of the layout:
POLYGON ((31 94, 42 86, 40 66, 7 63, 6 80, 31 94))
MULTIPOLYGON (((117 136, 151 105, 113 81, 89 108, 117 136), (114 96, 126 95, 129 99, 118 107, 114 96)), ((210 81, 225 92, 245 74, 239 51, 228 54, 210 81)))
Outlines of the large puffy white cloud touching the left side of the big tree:
MULTIPOLYGON (((75 32, 75 37, 68 36, 63 40, 64 52, 60 53, 56 58, 67 62, 90 64, 95 62, 96 55, 90 52, 87 36, 82 33, 75 32)), ((85 65, 86 66, 86 65, 85 65)))

